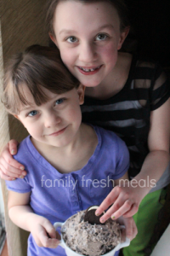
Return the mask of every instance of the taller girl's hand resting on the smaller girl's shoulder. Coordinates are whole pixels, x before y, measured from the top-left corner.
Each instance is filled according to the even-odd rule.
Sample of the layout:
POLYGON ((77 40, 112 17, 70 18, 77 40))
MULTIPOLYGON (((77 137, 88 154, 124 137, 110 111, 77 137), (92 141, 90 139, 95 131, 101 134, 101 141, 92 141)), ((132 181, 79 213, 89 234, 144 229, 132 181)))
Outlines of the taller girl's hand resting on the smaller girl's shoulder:
POLYGON ((12 156, 17 153, 17 145, 17 141, 9 141, 0 155, 0 177, 5 180, 14 180, 16 177, 24 177, 26 175, 25 167, 14 160, 12 156))

